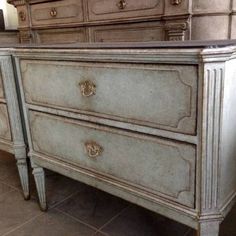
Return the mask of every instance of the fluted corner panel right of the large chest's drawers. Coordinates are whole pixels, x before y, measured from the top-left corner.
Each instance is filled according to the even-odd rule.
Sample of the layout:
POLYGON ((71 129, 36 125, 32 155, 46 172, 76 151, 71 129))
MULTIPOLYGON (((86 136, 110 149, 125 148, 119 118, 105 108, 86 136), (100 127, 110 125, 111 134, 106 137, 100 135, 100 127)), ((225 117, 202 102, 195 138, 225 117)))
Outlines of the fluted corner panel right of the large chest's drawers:
POLYGON ((215 212, 218 206, 219 155, 221 137, 224 64, 205 66, 203 111, 202 210, 215 212))

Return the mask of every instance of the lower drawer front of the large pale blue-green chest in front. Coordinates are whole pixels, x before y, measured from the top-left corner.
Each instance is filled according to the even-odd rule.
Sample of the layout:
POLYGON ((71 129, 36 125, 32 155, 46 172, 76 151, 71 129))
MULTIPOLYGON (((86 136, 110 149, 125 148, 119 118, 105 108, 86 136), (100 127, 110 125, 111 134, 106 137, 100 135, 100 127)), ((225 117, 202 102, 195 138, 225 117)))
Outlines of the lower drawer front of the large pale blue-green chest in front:
POLYGON ((194 206, 195 147, 30 111, 33 149, 194 206))

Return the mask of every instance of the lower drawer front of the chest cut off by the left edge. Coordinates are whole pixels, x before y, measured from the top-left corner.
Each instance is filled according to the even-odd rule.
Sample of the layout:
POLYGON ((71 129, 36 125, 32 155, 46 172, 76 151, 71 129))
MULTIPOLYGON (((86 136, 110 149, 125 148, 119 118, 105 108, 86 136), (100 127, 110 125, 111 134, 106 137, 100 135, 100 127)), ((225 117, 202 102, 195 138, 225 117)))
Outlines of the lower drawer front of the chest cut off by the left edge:
POLYGON ((7 106, 0 103, 0 139, 11 141, 11 127, 7 106))

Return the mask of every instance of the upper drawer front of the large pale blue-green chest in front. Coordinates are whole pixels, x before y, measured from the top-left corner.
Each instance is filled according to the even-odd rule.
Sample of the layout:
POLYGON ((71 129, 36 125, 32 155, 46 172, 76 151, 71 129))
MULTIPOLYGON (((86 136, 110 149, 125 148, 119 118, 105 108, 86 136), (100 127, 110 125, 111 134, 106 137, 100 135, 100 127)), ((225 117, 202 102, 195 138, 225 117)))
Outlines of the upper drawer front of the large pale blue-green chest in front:
POLYGON ((26 101, 195 133, 197 68, 21 61, 26 101))

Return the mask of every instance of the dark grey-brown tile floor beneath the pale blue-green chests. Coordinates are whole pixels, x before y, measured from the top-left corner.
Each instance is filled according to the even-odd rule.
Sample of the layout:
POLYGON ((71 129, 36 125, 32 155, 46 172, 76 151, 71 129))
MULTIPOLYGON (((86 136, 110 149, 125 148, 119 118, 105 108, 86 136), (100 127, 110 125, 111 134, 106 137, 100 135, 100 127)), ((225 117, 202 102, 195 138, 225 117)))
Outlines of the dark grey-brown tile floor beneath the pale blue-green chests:
MULTIPOLYGON (((15 160, 0 152, 1 236, 193 236, 194 231, 141 207, 47 172, 49 211, 32 197, 24 201, 15 160)), ((236 207, 222 223, 220 236, 236 236, 236 207)))

